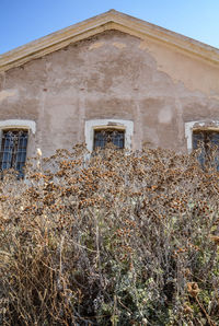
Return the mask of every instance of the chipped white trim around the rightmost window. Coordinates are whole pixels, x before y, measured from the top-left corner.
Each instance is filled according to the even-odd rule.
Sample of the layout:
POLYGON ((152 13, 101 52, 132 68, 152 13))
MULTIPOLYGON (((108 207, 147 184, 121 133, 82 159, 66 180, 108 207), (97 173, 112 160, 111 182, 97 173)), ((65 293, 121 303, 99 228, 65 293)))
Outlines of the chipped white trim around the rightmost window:
POLYGON ((218 130, 219 131, 219 120, 196 120, 185 123, 185 138, 187 141, 188 153, 193 151, 193 130, 198 128, 206 128, 206 130, 218 130))

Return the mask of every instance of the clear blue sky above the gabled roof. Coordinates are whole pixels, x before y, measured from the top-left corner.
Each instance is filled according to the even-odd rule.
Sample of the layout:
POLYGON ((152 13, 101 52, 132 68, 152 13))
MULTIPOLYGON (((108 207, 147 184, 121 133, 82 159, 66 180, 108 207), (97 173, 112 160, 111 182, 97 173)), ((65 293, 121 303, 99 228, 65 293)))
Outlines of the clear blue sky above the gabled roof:
POLYGON ((219 48, 219 0, 0 0, 0 54, 110 9, 219 48))

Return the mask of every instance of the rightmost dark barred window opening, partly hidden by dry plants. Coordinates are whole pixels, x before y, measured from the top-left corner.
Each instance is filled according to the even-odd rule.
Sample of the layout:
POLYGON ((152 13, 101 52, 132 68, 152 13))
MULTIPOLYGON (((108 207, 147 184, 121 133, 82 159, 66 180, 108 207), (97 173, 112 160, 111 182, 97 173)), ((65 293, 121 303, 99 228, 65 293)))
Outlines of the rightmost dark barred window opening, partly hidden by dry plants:
POLYGON ((193 149, 200 149, 198 161, 201 166, 215 166, 219 171, 219 132, 216 130, 194 130, 193 149))

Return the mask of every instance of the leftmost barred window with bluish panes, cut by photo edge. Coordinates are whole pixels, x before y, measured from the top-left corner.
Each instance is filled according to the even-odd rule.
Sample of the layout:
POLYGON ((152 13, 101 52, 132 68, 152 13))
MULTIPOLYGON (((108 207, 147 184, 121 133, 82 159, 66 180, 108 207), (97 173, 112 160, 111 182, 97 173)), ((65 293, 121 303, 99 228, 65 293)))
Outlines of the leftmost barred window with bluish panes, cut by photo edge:
POLYGON ((0 152, 1 170, 13 167, 19 172, 19 177, 23 176, 27 139, 27 130, 9 129, 2 131, 0 152))

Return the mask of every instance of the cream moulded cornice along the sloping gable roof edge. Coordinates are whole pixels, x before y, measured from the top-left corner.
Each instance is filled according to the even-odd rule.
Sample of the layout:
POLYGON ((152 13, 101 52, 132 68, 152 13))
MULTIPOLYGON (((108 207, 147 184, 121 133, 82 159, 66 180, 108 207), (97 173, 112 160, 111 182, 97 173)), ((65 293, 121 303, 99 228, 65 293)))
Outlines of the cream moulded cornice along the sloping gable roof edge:
POLYGON ((61 49, 69 44, 108 30, 120 31, 137 36, 142 40, 149 37, 211 63, 219 63, 219 49, 217 48, 115 10, 110 10, 1 55, 0 71, 19 67, 30 60, 61 49))

